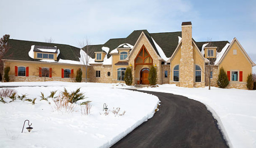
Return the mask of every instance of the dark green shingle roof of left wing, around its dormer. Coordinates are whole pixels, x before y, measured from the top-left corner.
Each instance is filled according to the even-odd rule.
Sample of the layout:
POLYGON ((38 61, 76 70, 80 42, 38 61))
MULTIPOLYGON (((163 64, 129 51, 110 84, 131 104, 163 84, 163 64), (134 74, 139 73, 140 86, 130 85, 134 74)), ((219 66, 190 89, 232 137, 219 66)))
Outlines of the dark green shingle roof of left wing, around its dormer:
POLYGON ((28 52, 30 51, 32 45, 47 46, 47 47, 56 46, 58 49, 60 49, 60 55, 58 56, 57 60, 61 58, 63 60, 79 61, 80 49, 74 46, 70 46, 66 44, 24 41, 24 40, 17 40, 17 39, 8 40, 8 46, 10 47, 10 49, 5 54, 3 59, 21 60, 21 61, 39 61, 38 59, 33 59, 28 56, 28 52))

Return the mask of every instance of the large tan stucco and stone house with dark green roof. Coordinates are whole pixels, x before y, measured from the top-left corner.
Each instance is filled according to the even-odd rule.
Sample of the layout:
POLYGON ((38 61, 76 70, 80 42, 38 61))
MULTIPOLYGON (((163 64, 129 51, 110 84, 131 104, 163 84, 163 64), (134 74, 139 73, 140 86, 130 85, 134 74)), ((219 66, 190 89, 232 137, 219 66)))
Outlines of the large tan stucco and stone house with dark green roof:
POLYGON ((126 38, 109 39, 83 50, 65 44, 9 39, 10 49, 3 61, 5 67, 10 67, 11 81, 73 81, 79 68, 84 81, 88 53, 88 82, 124 83, 125 70, 131 67, 133 85, 149 84, 149 68, 153 65, 158 84, 205 87, 207 63, 213 58, 212 86, 217 86, 223 67, 230 81, 228 88, 246 89, 247 75, 255 63, 238 40, 211 42, 210 47, 207 44, 192 38, 191 22, 182 22, 179 32, 135 30, 126 38))

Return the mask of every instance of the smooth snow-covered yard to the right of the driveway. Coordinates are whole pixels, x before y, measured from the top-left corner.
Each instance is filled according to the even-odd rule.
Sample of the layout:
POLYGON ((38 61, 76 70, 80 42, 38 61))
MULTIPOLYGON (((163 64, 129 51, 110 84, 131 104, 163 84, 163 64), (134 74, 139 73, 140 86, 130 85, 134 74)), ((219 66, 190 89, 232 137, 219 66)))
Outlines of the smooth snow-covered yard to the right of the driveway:
POLYGON ((167 92, 204 103, 233 148, 256 148, 256 91, 217 87, 184 88, 173 84, 140 90, 167 92))

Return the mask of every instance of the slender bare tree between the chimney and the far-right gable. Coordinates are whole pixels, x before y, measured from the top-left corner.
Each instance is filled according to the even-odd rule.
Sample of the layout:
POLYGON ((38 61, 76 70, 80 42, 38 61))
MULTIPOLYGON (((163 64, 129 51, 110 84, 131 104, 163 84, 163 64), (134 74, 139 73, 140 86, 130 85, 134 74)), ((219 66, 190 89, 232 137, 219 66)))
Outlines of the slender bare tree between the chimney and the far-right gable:
MULTIPOLYGON (((208 57, 208 63, 205 64, 205 77, 208 78, 208 82, 209 82, 209 90, 211 89, 211 76, 213 76, 213 70, 214 70, 214 62, 216 61, 216 57, 214 57, 214 50, 213 52, 211 52, 211 47, 213 47, 213 43, 212 43, 212 39, 211 38, 208 38, 207 40, 207 45, 205 46, 205 51, 207 51, 207 53, 205 52, 205 54, 212 54, 213 53, 213 57, 209 57, 208 56, 205 56, 205 57, 208 57), (206 50, 207 49, 207 50, 206 50)), ((216 51, 217 52, 217 51, 216 51)), ((216 53, 215 53, 216 55, 216 53)))

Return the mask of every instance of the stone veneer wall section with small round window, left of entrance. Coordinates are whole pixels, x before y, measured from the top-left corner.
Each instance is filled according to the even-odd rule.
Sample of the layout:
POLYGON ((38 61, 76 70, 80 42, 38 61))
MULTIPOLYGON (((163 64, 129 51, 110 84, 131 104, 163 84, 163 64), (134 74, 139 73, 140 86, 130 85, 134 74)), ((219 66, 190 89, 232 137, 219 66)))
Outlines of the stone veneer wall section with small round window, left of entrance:
POLYGON ((96 83, 112 83, 112 65, 93 65, 90 67, 88 72, 89 74, 89 82, 96 83), (100 77, 96 78, 96 70, 100 71, 100 77), (107 76, 107 72, 110 72, 110 76, 107 76))

